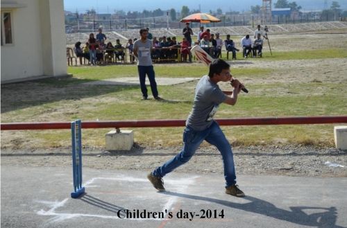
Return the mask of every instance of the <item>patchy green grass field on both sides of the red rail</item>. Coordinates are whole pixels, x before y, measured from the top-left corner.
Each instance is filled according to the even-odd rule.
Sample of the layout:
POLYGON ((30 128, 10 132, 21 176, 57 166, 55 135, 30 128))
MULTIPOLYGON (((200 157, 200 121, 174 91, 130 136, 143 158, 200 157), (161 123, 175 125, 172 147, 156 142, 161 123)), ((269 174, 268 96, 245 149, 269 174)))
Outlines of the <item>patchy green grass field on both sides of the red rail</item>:
MULTIPOLYGON (((238 55, 240 55, 238 53, 238 55)), ((225 55, 224 55, 225 57, 225 55)), ((239 57, 239 61, 245 61, 239 57)), ((346 49, 318 49, 278 52, 273 57, 252 61, 314 60, 320 58, 347 58, 346 49)), ((280 69, 235 68, 237 78, 260 78, 278 73, 280 69)), ((31 82, 35 89, 26 88, 34 95, 24 100, 3 103, 2 122, 41 121, 121 121, 144 119, 186 119, 192 108, 196 82, 173 86, 159 86, 160 96, 166 101, 141 100, 138 86, 85 86, 83 82, 137 76, 134 65, 104 67, 69 67, 71 78, 45 79, 31 82), (56 91, 56 93, 54 93, 56 91), (53 93, 44 98, 42 94, 53 93), (41 94, 41 95, 40 95, 41 94), (5 111, 3 111, 5 110, 5 111)), ((155 64, 156 76, 180 78, 201 77, 207 68, 198 64, 155 64)), ((344 80, 344 79, 342 79, 344 80)), ((24 82, 25 83, 25 82, 24 82)), ((332 116, 347 114, 346 84, 337 82, 269 82, 251 83, 250 94, 239 96, 237 105, 221 105, 215 116, 219 118, 267 116, 332 116), (317 91, 317 87, 321 88, 317 91), (286 91, 279 93, 278 91, 286 91)), ((6 92, 2 88, 1 95, 6 92)), ((149 94, 151 94, 149 89, 149 94)), ((105 133, 110 129, 83 130, 83 145, 103 147, 105 133)), ((294 143, 316 146, 333 145, 333 125, 267 125, 223 127, 233 145, 267 145, 294 143)), ((135 141, 144 146, 179 146, 183 128, 138 128, 135 141)), ((11 132, 1 132, 1 147, 11 132)), ((16 137, 16 136, 14 136, 16 137)), ((69 146, 67 130, 25 131, 18 137, 35 139, 35 147, 69 146)), ((22 143, 22 147, 25 147, 22 143)), ((21 147, 21 146, 19 146, 21 147)))

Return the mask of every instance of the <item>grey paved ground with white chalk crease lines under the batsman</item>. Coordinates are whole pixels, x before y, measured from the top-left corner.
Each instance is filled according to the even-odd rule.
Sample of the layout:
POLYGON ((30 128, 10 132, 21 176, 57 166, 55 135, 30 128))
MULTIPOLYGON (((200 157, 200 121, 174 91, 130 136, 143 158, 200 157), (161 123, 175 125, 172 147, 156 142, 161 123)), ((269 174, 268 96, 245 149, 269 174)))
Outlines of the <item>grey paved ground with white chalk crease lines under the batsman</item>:
POLYGON ((159 193, 145 172, 84 168, 72 199, 71 169, 1 166, 1 227, 347 227, 346 177, 239 175, 235 198, 217 174, 174 172, 159 193))

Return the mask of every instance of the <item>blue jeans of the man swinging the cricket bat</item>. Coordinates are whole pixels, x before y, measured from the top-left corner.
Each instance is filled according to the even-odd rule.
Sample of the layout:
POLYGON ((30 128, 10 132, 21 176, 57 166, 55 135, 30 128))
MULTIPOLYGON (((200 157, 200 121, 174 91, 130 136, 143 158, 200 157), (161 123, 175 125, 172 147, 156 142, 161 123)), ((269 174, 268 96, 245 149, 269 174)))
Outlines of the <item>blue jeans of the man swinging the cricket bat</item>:
POLYGON ((187 126, 183 133, 183 149, 176 157, 167 161, 164 165, 155 168, 153 175, 156 177, 164 177, 178 166, 185 164, 191 159, 200 144, 206 140, 208 143, 217 147, 223 159, 224 178, 226 179, 226 187, 236 184, 234 158, 230 143, 222 132, 217 122, 213 122, 209 128, 202 131, 196 131, 187 126))

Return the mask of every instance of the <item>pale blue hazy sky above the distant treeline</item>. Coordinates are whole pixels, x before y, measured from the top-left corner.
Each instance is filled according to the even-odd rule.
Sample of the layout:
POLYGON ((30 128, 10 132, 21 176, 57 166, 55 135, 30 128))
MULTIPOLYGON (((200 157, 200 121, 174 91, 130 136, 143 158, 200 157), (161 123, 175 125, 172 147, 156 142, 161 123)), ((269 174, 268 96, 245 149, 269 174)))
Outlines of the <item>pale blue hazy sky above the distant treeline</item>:
MULTIPOLYGON (((275 3, 277 0, 273 0, 275 3)), ((298 6, 302 6, 304 10, 319 10, 324 6, 324 0, 289 0, 296 1, 298 6)), ((328 1, 328 8, 331 6, 332 0, 328 1)), ((347 0, 334 0, 339 2, 341 9, 347 10, 347 0)), ((71 12, 85 12, 94 8, 99 13, 113 13, 115 10, 139 11, 142 10, 169 10, 174 8, 180 12, 182 6, 188 6, 189 10, 201 10, 201 12, 209 12, 221 8, 223 12, 227 11, 248 11, 251 6, 262 6, 262 0, 64 0, 64 8, 71 12)))

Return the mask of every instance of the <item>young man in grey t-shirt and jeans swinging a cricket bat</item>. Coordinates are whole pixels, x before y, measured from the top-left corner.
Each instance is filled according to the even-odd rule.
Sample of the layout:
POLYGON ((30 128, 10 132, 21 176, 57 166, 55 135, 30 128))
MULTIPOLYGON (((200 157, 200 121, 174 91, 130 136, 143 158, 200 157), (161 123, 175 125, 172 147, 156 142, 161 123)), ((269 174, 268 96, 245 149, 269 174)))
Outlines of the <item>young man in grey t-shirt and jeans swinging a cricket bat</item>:
POLYGON ((219 128, 218 123, 213 120, 219 105, 221 103, 235 105, 237 94, 244 87, 239 80, 232 80, 232 95, 227 96, 223 94, 217 83, 229 82, 230 80, 232 80, 230 65, 221 59, 214 60, 210 64, 208 75, 199 80, 195 89, 193 109, 188 116, 185 131, 183 132, 183 149, 176 157, 155 168, 153 172, 147 175, 149 181, 158 191, 165 191, 162 177, 189 161, 198 146, 205 140, 216 146, 221 152, 226 179, 226 193, 237 197, 244 196, 244 193, 236 185, 234 159, 230 143, 221 128, 219 128))

